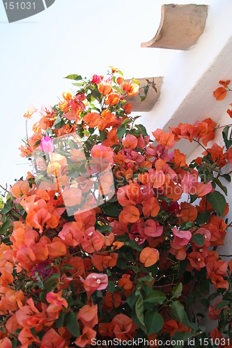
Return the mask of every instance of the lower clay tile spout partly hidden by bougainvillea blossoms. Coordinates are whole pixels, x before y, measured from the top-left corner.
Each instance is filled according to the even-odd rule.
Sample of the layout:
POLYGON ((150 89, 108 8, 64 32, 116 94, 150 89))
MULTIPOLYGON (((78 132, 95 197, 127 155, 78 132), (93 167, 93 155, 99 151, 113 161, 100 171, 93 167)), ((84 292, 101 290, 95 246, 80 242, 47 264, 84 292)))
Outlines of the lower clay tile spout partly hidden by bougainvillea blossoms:
MULTIPOLYGON (((150 87, 148 90, 148 94, 146 95, 146 99, 141 102, 139 95, 135 95, 134 97, 126 97, 127 102, 132 104, 132 111, 140 111, 140 112, 146 112, 150 111, 153 109, 153 106, 155 106, 155 103, 160 97, 160 88, 162 86, 162 77, 147 77, 144 79, 138 79, 140 82, 139 85, 139 93, 141 95, 144 95, 144 89, 143 87, 147 85, 147 81, 154 81, 155 88, 157 92, 155 91, 154 88, 150 87)), ((125 82, 129 82, 130 80, 125 80, 125 82)))

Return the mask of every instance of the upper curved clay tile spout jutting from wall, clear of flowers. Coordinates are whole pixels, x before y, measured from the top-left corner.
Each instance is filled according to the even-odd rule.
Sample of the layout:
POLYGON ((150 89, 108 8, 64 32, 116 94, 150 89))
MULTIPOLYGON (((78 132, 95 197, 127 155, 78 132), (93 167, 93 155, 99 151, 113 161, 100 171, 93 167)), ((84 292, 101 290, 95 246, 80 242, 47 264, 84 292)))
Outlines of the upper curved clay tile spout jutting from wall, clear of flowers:
POLYGON ((205 30, 207 15, 206 5, 163 5, 160 27, 155 37, 142 42, 141 47, 190 49, 205 30))

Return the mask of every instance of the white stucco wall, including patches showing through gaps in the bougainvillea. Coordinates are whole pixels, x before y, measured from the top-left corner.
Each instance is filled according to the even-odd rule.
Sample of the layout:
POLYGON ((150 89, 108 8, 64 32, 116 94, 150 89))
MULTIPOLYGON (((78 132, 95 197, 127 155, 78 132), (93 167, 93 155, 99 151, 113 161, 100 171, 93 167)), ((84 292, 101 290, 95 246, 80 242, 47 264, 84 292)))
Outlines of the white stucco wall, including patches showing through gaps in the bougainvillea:
MULTIPOLYGON (((212 95, 219 86, 219 80, 232 80, 231 13, 231 0, 210 1, 206 29, 196 45, 189 51, 173 51, 170 54, 169 50, 163 50, 160 54, 160 60, 166 65, 160 99, 141 119, 150 134, 157 127, 168 130, 179 122, 194 123, 208 117, 220 125, 231 123, 226 109, 232 102, 232 93, 228 93, 222 102, 212 95)), ((222 132, 217 131, 215 141, 224 146, 222 132)), ((190 144, 185 140, 178 142, 176 147, 187 153, 189 163, 203 152, 196 143, 190 144)), ((231 170, 232 166, 229 165, 223 168, 224 173, 231 170)), ((230 223, 232 184, 226 180, 222 183, 228 189, 226 200, 231 211, 225 219, 229 219, 230 223)), ((217 251, 219 255, 232 255, 232 228, 227 231, 224 246, 219 246, 217 251)), ((228 261, 231 257, 223 259, 228 261)), ((215 328, 215 322, 207 320, 205 324, 209 331, 215 328)))

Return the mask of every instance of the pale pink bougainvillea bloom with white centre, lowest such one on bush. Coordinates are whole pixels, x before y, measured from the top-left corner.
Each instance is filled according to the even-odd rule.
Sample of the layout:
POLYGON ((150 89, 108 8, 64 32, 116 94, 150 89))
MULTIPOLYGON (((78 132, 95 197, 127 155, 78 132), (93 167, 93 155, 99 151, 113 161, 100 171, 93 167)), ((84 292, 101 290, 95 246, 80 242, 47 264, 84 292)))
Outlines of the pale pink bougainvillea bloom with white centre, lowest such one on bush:
POLYGON ((91 273, 86 279, 79 277, 84 284, 84 290, 90 292, 91 294, 95 290, 105 290, 108 286, 108 277, 106 274, 91 273))

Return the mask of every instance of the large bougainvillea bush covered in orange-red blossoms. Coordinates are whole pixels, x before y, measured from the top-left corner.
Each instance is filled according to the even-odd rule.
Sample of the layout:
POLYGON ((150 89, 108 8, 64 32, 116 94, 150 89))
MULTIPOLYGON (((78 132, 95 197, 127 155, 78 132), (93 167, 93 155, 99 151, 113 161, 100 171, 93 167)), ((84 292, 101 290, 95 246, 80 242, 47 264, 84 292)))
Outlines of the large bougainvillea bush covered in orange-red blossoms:
POLYGON ((1 347, 231 347, 229 127, 224 147, 210 118, 150 139, 127 97, 152 81, 68 78, 77 92, 40 111, 20 148, 34 170, 1 208, 1 347), (202 146, 190 165, 180 139, 202 146))

